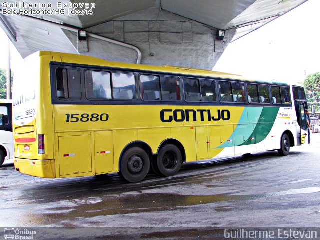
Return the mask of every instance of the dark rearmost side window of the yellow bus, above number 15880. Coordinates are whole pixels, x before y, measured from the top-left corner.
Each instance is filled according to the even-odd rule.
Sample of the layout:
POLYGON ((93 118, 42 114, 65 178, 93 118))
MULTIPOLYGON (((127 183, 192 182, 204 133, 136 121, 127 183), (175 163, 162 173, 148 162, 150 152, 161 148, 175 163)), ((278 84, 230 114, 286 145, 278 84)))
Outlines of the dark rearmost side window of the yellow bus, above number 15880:
POLYGON ((57 68, 56 89, 56 95, 59 99, 80 99, 80 71, 74 68, 57 68))

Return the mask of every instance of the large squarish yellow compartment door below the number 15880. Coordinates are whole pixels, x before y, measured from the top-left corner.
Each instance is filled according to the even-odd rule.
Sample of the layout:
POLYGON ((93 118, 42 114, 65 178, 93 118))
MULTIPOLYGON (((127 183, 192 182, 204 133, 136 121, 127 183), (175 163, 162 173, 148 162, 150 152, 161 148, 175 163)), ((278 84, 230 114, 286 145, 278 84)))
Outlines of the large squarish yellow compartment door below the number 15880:
POLYGON ((60 175, 92 172, 91 135, 59 137, 60 175))

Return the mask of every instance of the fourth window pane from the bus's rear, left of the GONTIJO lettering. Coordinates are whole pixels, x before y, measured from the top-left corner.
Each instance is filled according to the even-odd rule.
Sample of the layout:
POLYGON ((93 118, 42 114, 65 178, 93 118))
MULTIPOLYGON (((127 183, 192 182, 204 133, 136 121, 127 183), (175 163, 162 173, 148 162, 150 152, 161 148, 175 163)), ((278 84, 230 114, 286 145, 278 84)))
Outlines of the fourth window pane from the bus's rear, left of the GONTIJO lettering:
POLYGON ((161 100, 160 78, 158 76, 141 75, 140 89, 142 100, 161 100))

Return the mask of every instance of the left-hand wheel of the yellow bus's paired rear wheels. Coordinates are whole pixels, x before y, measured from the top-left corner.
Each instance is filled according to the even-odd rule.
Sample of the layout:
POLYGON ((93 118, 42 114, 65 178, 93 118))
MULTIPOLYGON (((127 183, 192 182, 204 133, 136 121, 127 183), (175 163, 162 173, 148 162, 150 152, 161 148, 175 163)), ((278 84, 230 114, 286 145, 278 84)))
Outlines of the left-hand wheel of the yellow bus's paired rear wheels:
POLYGON ((132 147, 121 157, 119 176, 128 182, 137 182, 144 179, 149 169, 150 160, 145 150, 132 147))

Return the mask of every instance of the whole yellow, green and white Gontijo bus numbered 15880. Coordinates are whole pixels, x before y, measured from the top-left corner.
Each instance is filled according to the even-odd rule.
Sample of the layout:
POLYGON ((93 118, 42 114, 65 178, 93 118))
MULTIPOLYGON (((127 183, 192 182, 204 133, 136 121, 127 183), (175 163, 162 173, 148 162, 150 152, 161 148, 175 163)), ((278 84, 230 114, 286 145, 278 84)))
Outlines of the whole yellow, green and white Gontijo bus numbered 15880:
POLYGON ((40 51, 13 88, 14 165, 38 177, 149 169, 170 176, 184 162, 307 141, 304 89, 173 66, 110 62, 40 51))

